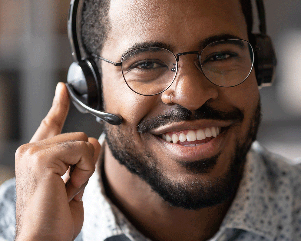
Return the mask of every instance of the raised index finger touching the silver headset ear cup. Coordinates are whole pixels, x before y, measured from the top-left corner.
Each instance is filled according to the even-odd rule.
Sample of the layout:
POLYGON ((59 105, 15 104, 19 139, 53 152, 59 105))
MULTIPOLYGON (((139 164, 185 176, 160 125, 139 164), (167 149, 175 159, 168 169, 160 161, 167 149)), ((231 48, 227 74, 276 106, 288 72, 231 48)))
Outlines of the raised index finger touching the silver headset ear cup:
POLYGON ((42 120, 38 130, 35 132, 30 142, 44 140, 61 134, 69 110, 69 97, 67 88, 64 83, 57 84, 55 89, 55 97, 52 106, 42 120))

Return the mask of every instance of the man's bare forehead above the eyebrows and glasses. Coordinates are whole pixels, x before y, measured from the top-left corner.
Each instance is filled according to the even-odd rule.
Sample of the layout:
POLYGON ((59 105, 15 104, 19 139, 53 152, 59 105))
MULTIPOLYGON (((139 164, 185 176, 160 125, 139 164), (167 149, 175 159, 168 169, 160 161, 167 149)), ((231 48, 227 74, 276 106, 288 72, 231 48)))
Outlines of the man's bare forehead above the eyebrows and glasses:
POLYGON ((239 0, 111 0, 109 19, 104 48, 116 50, 154 41, 190 51, 214 35, 247 39, 239 0))

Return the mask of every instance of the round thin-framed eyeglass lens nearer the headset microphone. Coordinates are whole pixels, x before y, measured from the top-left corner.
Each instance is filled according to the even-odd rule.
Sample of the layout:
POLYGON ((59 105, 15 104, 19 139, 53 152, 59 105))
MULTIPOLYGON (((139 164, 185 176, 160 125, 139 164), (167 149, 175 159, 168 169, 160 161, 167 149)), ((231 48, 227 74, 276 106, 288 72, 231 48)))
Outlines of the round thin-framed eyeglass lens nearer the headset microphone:
POLYGON ((177 59, 164 48, 139 48, 122 58, 122 74, 128 87, 142 95, 165 91, 177 74, 177 59))

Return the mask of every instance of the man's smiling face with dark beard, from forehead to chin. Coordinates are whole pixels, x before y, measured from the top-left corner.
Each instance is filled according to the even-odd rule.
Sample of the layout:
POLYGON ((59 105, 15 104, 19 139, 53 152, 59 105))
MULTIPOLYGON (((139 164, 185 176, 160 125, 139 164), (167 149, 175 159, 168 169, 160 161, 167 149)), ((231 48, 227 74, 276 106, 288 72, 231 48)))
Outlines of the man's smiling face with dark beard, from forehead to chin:
POLYGON ((108 181, 116 183, 112 187, 114 190, 123 189, 114 180, 120 172, 124 173, 125 180, 135 178, 135 183, 141 183, 141 188, 151 186, 173 206, 188 209, 230 201, 260 118, 254 70, 243 81, 252 69, 253 56, 250 57, 248 43, 224 40, 248 40, 241 5, 237 1, 196 1, 189 5, 184 1, 173 4, 153 1, 147 5, 127 2, 120 8, 120 4, 111 2, 109 40, 104 44, 101 56, 118 60, 128 50, 148 47, 142 53, 127 54, 129 56, 124 57, 126 61, 122 65, 124 79, 139 94, 156 94, 171 82, 144 84, 144 80, 136 86, 132 83, 133 74, 135 82, 138 77, 148 78, 151 75, 153 79, 156 74, 162 74, 170 81, 175 79, 161 94, 139 96, 127 87, 121 68, 101 63, 103 79, 110 79, 109 84, 103 81, 105 109, 109 113, 120 114, 126 120, 121 126, 106 125, 108 146, 105 147, 105 156, 110 159, 105 162, 108 181), (134 6, 137 8, 134 16, 124 14, 133 12, 134 6), (153 47, 167 48, 174 54, 202 51, 199 60, 203 73, 194 63, 197 54, 181 55, 177 62, 168 51, 154 50, 153 47), (223 52, 217 52, 221 50, 223 52), (240 55, 234 56, 237 53, 240 55), (142 55, 142 58, 135 55, 142 55), (138 62, 140 65, 135 65, 138 70, 128 70, 134 62, 130 58, 135 61, 137 58, 159 58, 152 55, 162 58, 156 63, 158 67, 151 66, 151 69, 149 65, 153 63, 148 60, 144 63, 147 66, 138 62), (173 72, 165 74, 164 62, 167 65, 169 62, 177 63, 175 77, 173 72), (225 88, 215 84, 239 85, 225 88), (122 94, 115 96, 112 102, 114 93, 122 94), (116 160, 127 169, 111 168, 116 160), (132 176, 128 170, 138 174, 142 180, 132 176))

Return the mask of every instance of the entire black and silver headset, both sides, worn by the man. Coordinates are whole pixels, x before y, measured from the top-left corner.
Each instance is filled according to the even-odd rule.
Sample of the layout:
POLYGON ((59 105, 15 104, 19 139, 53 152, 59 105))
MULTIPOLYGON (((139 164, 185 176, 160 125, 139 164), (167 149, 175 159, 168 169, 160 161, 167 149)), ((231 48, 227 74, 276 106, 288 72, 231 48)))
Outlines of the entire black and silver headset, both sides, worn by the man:
MULTIPOLYGON (((120 125, 122 117, 99 111, 102 107, 101 78, 97 65, 87 56, 81 42, 81 13, 84 0, 71 0, 68 13, 68 39, 74 62, 67 75, 69 97, 81 113, 96 116, 96 121, 120 125)), ((259 47, 255 52, 254 68, 258 88, 271 86, 275 77, 276 54, 271 38, 266 35, 266 21, 263 0, 256 0, 259 17, 259 34, 252 34, 250 42, 259 47)))

